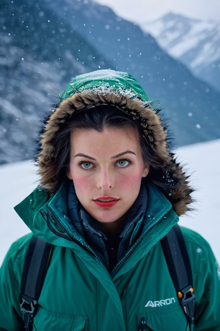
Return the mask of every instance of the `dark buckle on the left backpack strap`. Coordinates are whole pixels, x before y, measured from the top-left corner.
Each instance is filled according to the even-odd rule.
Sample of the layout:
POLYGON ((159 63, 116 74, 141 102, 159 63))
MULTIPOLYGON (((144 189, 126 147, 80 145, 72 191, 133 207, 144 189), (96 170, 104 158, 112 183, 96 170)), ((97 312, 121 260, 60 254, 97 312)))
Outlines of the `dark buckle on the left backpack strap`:
POLYGON ((33 317, 36 313, 35 308, 37 307, 38 302, 25 295, 21 296, 21 300, 20 310, 22 318, 25 323, 26 331, 29 331, 33 322, 33 317))

